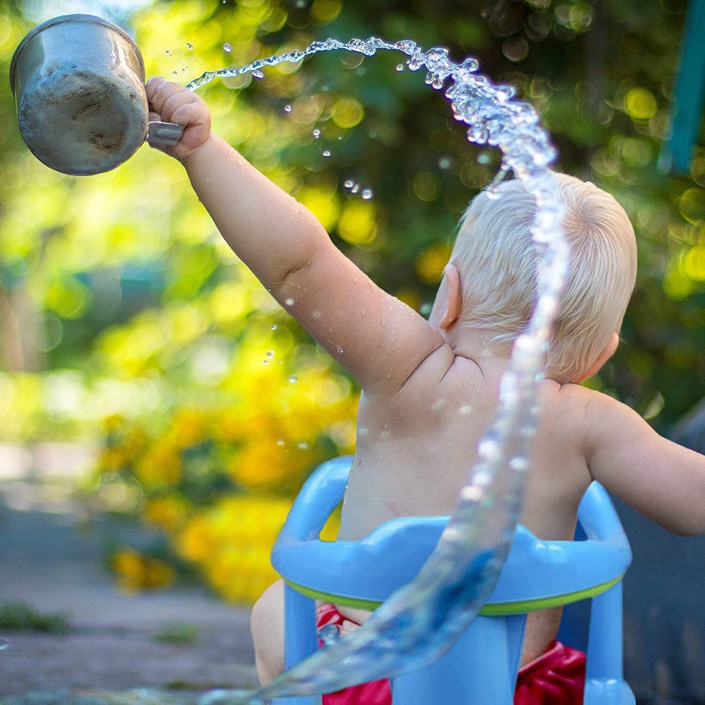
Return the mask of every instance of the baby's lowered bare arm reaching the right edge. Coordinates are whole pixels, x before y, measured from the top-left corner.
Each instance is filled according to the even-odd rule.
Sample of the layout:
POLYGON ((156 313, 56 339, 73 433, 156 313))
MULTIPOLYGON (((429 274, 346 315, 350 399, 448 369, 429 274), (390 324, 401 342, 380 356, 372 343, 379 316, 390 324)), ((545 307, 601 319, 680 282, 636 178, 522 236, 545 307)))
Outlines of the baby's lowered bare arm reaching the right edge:
POLYGON ((586 408, 592 477, 676 534, 705 534, 705 455, 668 441, 637 412, 591 393, 586 408))

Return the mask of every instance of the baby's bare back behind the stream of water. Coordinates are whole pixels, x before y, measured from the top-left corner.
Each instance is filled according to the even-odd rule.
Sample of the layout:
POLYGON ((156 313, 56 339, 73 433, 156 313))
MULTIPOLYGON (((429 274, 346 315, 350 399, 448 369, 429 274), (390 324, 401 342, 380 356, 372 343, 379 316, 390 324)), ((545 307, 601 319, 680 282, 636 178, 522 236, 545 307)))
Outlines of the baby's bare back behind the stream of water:
MULTIPOLYGON (((486 358, 478 365, 441 348, 398 393, 363 393, 341 539, 361 539, 393 517, 453 512, 477 443, 496 411, 506 364, 486 358)), ((542 539, 572 539, 577 507, 591 482, 580 430, 584 404, 571 391, 551 380, 541 383, 541 417, 521 522, 542 539)), ((355 621, 365 616, 340 609, 355 621)), ((560 609, 529 618, 522 662, 543 653, 559 622, 560 609)))

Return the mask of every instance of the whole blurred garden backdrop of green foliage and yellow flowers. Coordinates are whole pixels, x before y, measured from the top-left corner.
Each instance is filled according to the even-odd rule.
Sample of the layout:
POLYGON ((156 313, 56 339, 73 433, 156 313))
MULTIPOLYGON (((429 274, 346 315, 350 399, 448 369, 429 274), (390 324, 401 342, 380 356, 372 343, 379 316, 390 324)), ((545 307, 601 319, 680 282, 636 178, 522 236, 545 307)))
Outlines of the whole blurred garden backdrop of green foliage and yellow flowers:
MULTIPOLYGON (((623 344, 587 384, 668 435, 705 394, 703 142, 689 173, 657 167, 686 5, 4 0, 0 73, 32 26, 71 11, 123 24, 147 75, 179 82, 329 36, 408 38, 448 47, 456 60, 476 56, 483 73, 536 106, 558 147, 556 168, 613 193, 634 223, 639 276, 623 344)), ((455 224, 499 157, 470 145, 442 94, 400 61, 331 52, 267 69, 261 80, 217 80, 201 94, 218 133, 424 314, 455 224)), ((276 577, 269 549, 307 474, 354 450, 355 382, 223 245, 175 160, 143 147, 100 176, 54 173, 22 142, 0 80, 0 176, 6 513, 70 507, 88 523, 108 516, 142 527, 102 541, 121 589, 200 582, 251 604, 276 577)), ((637 534, 652 530, 620 510, 637 534)), ((630 538, 658 572, 652 539, 630 538)), ((702 544, 696 553, 687 546, 705 555, 702 544)), ((688 570, 697 574, 682 582, 699 581, 701 593, 699 569, 688 570)), ((635 625, 654 622, 653 600, 635 625)), ((686 637, 663 656, 639 657, 642 697, 705 701, 702 668, 687 667, 705 654, 694 619, 688 629, 666 619, 686 637)))

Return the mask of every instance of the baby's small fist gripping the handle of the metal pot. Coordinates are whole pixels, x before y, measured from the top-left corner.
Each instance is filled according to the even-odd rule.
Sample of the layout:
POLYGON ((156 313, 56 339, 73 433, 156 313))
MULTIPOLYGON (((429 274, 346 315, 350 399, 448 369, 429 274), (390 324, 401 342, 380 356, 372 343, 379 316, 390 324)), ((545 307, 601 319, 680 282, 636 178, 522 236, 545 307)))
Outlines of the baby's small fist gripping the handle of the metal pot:
POLYGON ((186 125, 178 145, 152 145, 172 157, 188 159, 204 145, 211 135, 211 114, 206 104, 194 92, 164 78, 150 78, 145 86, 149 104, 149 121, 186 125))

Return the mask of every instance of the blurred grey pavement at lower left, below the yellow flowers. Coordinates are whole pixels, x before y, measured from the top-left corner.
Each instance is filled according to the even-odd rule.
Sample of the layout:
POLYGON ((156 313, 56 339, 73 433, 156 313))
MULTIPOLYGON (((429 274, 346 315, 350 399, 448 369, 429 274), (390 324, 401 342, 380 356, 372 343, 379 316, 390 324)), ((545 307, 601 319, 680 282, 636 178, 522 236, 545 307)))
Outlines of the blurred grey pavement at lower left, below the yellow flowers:
POLYGON ((87 522, 61 472, 27 476, 6 464, 0 476, 0 604, 63 613, 70 626, 65 634, 0 628, 0 704, 185 705, 207 689, 257 683, 247 608, 195 586, 121 593, 104 566, 105 541, 145 529, 109 517, 87 522), (197 637, 155 640, 172 624, 197 637))

